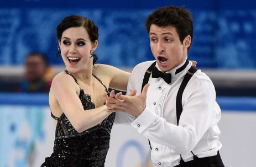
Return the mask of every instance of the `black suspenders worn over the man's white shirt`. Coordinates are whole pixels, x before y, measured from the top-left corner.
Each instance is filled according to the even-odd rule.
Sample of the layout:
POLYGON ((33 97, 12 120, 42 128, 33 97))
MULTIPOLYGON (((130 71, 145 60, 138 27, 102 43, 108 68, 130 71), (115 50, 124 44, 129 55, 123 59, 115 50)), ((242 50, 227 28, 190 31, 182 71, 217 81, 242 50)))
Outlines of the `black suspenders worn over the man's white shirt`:
MULTIPOLYGON (((188 60, 187 60, 188 61, 188 60)), ((148 80, 149 80, 149 77, 151 75, 151 71, 150 69, 151 68, 154 68, 155 67, 155 64, 156 62, 152 63, 151 66, 147 69, 147 71, 145 72, 145 75, 144 75, 144 78, 143 78, 143 83, 142 83, 142 90, 145 86, 145 84, 148 83, 148 80)), ((191 66, 189 71, 185 74, 185 77, 184 79, 182 80, 181 82, 181 85, 180 85, 180 88, 177 92, 177 96, 176 96, 176 115, 177 115, 177 125, 179 125, 179 120, 180 120, 180 115, 181 115, 181 112, 183 110, 183 107, 182 107, 182 94, 184 92, 184 89, 186 88, 186 85, 187 83, 189 82, 189 80, 191 79, 191 77, 194 75, 194 73, 197 71, 197 68, 195 68, 194 66, 191 66)), ((142 91, 141 90, 141 91, 142 91)), ((148 140, 149 142, 149 147, 150 149, 151 148, 151 144, 150 144, 150 141, 148 140)), ((194 153, 191 151, 191 153, 194 155, 194 153)), ((198 158, 196 155, 194 155, 194 159, 198 158)), ((184 160, 181 158, 181 155, 180 155, 180 163, 185 163, 184 160)))

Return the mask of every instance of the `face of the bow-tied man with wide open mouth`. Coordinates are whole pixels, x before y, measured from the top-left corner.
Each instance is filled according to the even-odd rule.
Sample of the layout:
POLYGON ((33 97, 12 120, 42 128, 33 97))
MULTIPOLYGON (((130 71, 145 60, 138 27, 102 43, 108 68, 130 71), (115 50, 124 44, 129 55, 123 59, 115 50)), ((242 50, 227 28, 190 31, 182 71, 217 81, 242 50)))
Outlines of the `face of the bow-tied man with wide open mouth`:
POLYGON ((161 71, 170 71, 186 60, 187 47, 190 46, 191 37, 186 36, 181 43, 174 26, 150 26, 149 31, 151 51, 161 71))

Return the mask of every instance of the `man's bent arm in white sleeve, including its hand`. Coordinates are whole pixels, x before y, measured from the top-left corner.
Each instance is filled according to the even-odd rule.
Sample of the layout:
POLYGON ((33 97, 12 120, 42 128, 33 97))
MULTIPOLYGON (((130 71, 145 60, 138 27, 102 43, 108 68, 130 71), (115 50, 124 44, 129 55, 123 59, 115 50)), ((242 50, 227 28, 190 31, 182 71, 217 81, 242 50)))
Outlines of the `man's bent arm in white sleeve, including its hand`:
POLYGON ((112 111, 123 110, 137 117, 132 122, 132 126, 151 141, 168 146, 180 154, 186 154, 196 146, 208 127, 214 123, 216 101, 215 89, 210 80, 194 79, 194 82, 187 86, 184 94, 182 98, 184 110, 179 126, 159 117, 149 107, 141 111, 146 99, 144 95, 117 95, 118 101, 114 104, 116 106, 111 107, 118 108, 112 111))

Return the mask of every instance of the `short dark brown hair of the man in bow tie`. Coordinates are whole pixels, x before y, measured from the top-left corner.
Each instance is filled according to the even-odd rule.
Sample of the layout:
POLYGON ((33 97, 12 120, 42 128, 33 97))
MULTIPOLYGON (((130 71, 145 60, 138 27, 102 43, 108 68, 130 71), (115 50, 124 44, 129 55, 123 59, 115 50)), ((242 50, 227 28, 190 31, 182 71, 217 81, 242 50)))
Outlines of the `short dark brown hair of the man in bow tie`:
MULTIPOLYGON (((193 18, 191 12, 184 7, 166 6, 154 10, 145 21, 148 34, 152 24, 160 27, 174 26, 179 34, 181 44, 187 35, 191 36, 192 44, 193 18)), ((189 49, 190 47, 187 48, 187 50, 189 49)))

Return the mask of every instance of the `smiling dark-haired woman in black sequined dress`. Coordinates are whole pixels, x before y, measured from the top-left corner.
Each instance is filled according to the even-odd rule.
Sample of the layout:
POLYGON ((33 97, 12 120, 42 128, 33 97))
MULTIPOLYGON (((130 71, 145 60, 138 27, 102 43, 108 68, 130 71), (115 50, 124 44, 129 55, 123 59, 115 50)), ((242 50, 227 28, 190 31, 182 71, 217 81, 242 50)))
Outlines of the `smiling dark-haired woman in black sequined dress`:
POLYGON ((51 84, 54 152, 41 166, 104 166, 115 114, 107 112, 103 94, 126 91, 130 73, 95 65, 98 27, 91 19, 71 15, 56 30, 66 70, 51 84))

